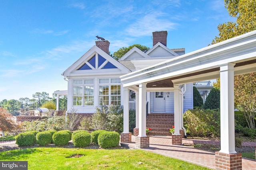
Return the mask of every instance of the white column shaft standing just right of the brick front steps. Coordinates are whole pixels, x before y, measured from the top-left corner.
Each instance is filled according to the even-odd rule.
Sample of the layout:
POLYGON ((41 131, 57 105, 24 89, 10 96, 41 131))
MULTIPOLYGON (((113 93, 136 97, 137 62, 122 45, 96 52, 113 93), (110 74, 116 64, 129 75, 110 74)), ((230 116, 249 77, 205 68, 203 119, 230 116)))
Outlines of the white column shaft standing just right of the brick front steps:
POLYGON ((174 85, 174 134, 180 135, 180 88, 174 85))

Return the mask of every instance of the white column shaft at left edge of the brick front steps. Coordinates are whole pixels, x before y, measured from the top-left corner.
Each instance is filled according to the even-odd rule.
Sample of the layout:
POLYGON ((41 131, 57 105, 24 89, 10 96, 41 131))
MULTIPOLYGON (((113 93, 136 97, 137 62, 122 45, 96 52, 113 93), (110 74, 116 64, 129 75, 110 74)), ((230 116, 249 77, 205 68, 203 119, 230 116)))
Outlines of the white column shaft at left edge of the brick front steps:
POLYGON ((139 135, 146 137, 146 83, 139 84, 139 135))

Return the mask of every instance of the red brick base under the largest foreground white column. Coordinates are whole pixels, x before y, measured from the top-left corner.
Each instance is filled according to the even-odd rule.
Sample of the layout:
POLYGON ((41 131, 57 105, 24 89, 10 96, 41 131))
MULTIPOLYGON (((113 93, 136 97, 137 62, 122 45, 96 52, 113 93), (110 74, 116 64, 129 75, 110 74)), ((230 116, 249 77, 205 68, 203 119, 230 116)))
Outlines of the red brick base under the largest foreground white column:
POLYGON ((215 152, 216 170, 242 170, 242 153, 215 152))

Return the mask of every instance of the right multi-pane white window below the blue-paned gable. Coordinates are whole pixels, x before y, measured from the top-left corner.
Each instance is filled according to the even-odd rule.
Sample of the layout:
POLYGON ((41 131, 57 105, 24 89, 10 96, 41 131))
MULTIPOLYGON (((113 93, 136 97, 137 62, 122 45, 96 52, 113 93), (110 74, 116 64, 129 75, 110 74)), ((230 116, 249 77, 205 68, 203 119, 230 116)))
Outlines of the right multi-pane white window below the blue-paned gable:
POLYGON ((120 82, 120 78, 99 79, 99 105, 121 104, 120 82))

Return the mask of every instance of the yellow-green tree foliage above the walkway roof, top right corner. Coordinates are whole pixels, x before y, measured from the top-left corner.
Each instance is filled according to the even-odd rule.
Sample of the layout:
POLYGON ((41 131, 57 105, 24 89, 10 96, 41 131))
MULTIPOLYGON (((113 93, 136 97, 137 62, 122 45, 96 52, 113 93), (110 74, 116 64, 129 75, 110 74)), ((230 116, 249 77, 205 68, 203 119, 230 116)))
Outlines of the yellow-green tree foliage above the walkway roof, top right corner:
POLYGON ((212 40, 212 44, 242 35, 256 29, 256 1, 255 0, 224 0, 230 16, 236 22, 218 25, 219 37, 212 40))

